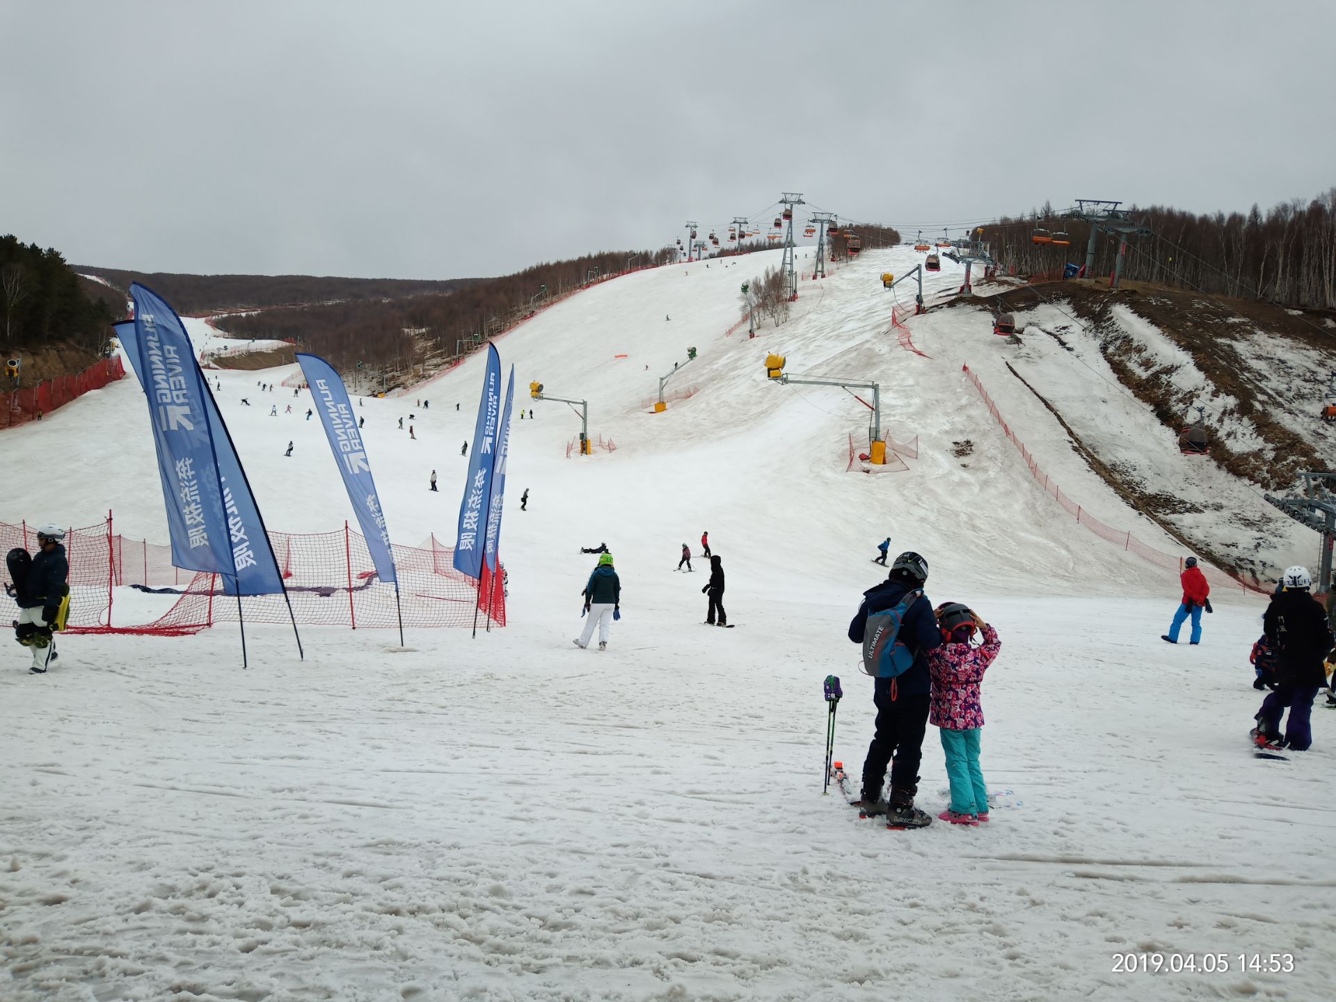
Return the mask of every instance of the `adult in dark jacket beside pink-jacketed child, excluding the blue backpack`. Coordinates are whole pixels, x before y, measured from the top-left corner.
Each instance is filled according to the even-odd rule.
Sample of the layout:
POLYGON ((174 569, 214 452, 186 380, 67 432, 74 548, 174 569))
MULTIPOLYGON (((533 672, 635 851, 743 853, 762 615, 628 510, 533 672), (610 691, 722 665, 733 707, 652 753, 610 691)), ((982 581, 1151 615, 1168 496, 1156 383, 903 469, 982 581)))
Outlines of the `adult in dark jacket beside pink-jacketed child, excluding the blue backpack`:
MULTIPOLYGON (((926 581, 927 561, 918 553, 900 553, 891 564, 886 581, 863 592, 863 604, 848 624, 848 639, 862 644, 868 613, 895 608, 900 599, 911 591, 922 589, 926 581)), ((863 760, 863 788, 855 806, 868 815, 887 814, 888 824, 922 828, 931 822, 931 818, 914 807, 933 688, 927 652, 942 645, 942 631, 927 596, 919 596, 906 609, 899 640, 912 652, 914 664, 895 679, 876 679, 872 696, 876 704, 876 735, 863 760), (888 803, 882 798, 887 764, 891 764, 888 803)))

